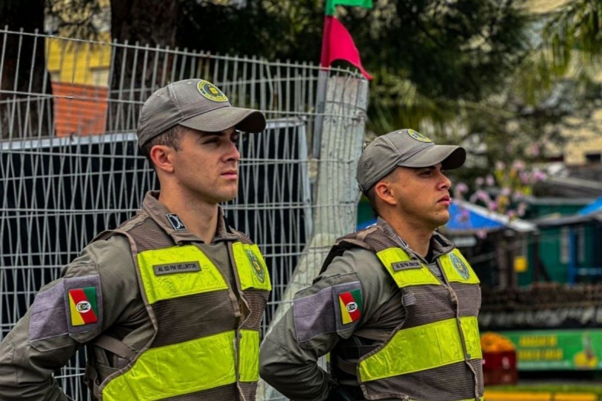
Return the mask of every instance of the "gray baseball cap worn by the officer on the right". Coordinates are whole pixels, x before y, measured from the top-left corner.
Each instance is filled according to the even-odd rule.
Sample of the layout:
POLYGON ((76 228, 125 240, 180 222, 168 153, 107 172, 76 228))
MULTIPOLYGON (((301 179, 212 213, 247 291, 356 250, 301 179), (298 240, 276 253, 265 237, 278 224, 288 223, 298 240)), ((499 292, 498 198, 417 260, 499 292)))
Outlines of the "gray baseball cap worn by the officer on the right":
POLYGON ((362 192, 368 191, 397 166, 430 167, 441 163, 444 170, 461 167, 466 150, 454 145, 435 145, 413 129, 386 133, 370 142, 359 157, 358 180, 362 192))

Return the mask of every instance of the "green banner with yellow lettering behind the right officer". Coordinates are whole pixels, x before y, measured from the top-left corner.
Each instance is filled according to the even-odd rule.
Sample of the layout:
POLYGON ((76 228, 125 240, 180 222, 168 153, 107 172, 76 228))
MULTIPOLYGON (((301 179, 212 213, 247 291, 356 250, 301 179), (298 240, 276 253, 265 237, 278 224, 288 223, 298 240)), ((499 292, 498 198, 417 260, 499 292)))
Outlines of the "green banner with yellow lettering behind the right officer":
POLYGON ((602 329, 501 331, 517 349, 518 370, 602 369, 602 329))

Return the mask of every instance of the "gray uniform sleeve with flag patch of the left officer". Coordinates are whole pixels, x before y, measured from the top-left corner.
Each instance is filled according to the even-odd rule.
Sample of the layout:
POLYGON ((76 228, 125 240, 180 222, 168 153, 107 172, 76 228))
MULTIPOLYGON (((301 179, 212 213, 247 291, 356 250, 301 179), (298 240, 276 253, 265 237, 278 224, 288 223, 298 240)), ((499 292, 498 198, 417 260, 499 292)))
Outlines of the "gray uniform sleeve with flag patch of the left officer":
POLYGON ((40 289, 0 343, 0 400, 68 400, 52 373, 120 319, 138 293, 129 249, 121 236, 93 242, 40 289))

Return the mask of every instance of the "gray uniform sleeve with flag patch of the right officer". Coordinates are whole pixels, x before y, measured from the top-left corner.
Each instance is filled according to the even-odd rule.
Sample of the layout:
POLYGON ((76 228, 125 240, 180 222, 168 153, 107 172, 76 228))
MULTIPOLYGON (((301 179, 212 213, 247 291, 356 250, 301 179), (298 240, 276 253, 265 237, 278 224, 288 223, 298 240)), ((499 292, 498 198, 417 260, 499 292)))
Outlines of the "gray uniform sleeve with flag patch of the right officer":
POLYGON ((369 274, 370 266, 380 266, 370 251, 346 251, 311 287, 295 295, 293 307, 261 346, 265 382, 293 401, 326 400, 332 384, 318 367, 318 358, 374 320, 382 308, 385 281, 369 274))

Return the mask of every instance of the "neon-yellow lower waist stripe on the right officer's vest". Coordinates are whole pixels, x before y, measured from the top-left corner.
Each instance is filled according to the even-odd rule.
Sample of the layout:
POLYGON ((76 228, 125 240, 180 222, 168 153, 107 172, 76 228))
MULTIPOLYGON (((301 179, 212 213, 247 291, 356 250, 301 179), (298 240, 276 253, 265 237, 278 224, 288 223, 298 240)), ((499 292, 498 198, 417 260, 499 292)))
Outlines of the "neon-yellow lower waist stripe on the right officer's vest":
MULTIPOLYGON (((469 359, 480 359, 477 318, 461 317, 460 322, 469 359)), ((398 331, 381 350, 359 364, 359 377, 367 382, 461 361, 464 361, 464 350, 457 320, 446 319, 398 331)))

